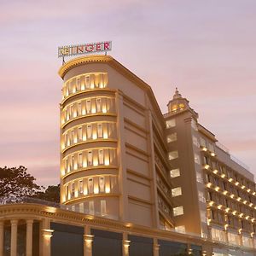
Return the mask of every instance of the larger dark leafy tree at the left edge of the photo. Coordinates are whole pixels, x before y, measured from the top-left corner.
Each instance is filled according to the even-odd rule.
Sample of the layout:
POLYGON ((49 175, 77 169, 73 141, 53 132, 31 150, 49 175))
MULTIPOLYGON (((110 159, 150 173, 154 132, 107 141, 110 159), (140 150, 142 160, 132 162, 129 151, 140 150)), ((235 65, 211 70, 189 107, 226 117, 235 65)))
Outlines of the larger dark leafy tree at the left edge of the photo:
POLYGON ((0 167, 0 197, 14 197, 35 195, 43 189, 35 183, 36 178, 26 173, 26 167, 0 167))

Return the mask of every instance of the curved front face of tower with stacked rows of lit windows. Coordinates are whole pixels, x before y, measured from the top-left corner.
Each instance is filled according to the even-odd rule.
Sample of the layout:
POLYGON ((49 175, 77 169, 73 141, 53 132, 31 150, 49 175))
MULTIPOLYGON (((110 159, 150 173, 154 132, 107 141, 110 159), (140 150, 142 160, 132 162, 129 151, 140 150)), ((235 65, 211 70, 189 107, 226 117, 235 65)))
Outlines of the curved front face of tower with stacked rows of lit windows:
POLYGON ((114 218, 119 215, 115 91, 106 72, 72 71, 62 87, 61 202, 77 212, 114 218))

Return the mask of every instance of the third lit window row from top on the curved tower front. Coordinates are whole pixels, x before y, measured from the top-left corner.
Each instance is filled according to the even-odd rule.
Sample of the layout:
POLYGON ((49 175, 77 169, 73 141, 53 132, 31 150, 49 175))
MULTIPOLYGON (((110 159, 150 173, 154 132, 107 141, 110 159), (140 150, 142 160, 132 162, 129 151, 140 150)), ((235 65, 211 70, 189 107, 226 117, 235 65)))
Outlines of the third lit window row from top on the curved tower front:
MULTIPOLYGON (((115 137, 116 129, 114 123, 87 123, 87 125, 81 125, 73 128, 64 133, 64 147, 67 148, 70 145, 76 143, 82 143, 88 140, 95 140, 98 138, 113 138, 115 137)), ((62 149, 63 149, 62 148, 62 149)))

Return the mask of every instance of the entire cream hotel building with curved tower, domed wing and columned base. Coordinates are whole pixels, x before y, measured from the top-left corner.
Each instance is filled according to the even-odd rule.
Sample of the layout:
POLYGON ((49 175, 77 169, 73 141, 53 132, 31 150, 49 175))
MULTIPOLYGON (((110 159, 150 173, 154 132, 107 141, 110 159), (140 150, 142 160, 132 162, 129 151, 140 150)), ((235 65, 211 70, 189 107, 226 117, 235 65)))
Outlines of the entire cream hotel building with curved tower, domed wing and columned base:
POLYGON ((109 55, 59 74, 61 207, 0 206, 0 256, 256 255, 253 174, 186 98, 162 114, 109 55))

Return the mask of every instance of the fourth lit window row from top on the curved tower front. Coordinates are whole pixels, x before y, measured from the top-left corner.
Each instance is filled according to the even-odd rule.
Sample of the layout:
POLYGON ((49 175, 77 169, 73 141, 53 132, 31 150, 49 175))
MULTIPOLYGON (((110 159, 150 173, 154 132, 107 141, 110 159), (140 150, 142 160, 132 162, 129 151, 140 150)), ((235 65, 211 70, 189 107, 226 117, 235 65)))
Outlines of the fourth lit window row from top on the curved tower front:
POLYGON ((116 150, 99 148, 81 151, 64 159, 64 172, 72 172, 87 166, 116 166, 116 150))

